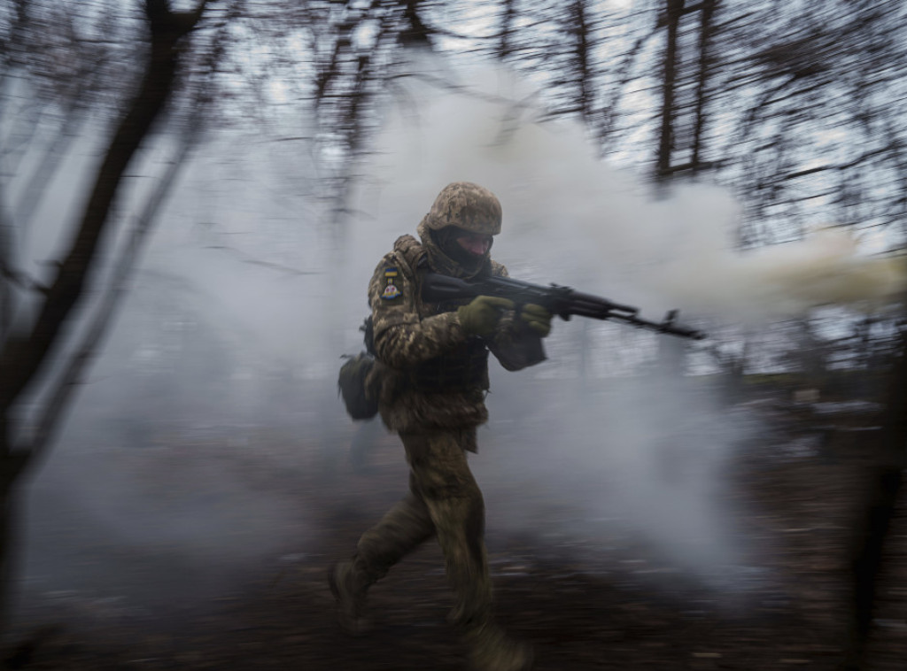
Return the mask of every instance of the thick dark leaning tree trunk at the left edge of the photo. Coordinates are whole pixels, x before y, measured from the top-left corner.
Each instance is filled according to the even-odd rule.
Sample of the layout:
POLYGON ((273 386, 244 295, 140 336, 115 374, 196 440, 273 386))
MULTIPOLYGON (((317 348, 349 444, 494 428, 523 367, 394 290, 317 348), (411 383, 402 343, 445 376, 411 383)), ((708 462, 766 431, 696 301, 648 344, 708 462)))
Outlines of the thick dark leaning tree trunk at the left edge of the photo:
POLYGON ((26 468, 43 452, 46 433, 59 420, 64 399, 54 395, 44 416, 44 429, 32 435, 20 425, 18 404, 47 374, 49 357, 67 334, 70 316, 96 264, 102 237, 112 225, 111 209, 125 170, 171 97, 185 40, 199 24, 206 5, 207 0, 202 0, 193 12, 180 14, 171 11, 167 0, 144 3, 150 44, 141 83, 112 133, 70 246, 53 281, 42 289, 34 319, 16 328, 0 350, 0 606, 5 606, 11 571, 17 485, 26 468))

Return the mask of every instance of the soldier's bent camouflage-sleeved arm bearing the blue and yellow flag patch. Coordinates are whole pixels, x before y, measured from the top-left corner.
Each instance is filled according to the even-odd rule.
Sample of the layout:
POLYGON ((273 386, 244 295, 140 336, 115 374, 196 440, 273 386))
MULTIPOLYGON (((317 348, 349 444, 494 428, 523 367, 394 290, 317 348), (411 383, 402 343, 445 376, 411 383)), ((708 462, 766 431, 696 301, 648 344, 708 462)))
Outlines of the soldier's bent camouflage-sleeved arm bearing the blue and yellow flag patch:
POLYGON ((375 353, 392 368, 422 363, 466 339, 456 312, 419 319, 413 279, 393 254, 375 268, 368 301, 375 325, 375 353))

